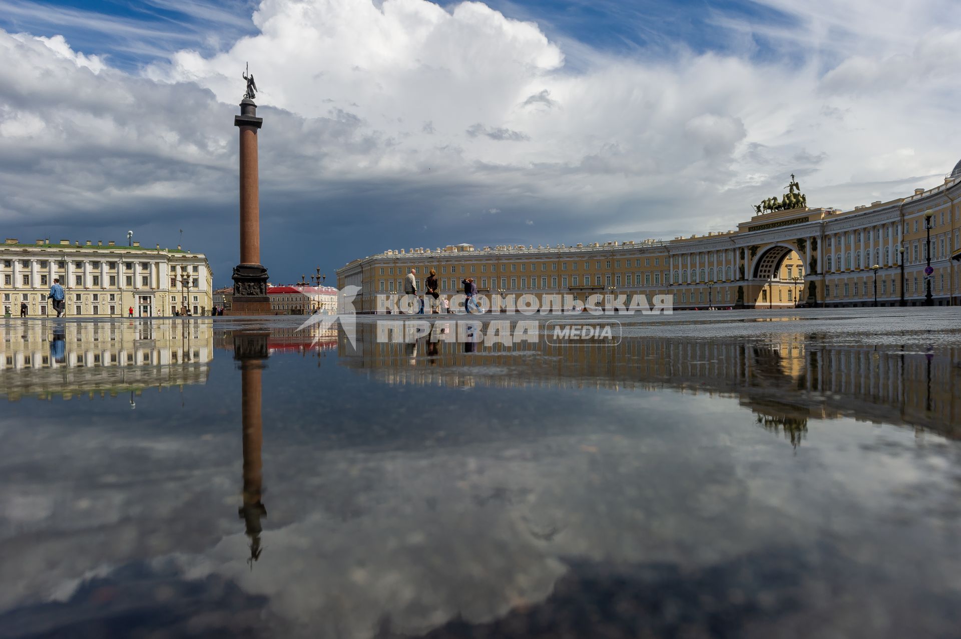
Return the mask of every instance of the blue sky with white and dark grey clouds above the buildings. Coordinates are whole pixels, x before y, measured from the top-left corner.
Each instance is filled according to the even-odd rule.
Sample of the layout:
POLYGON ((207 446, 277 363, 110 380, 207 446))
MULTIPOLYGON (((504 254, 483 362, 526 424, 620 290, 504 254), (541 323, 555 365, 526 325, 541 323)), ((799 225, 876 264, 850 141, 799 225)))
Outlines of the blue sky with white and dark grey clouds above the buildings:
POLYGON ((0 221, 183 228, 228 283, 245 61, 275 282, 387 248, 723 231, 791 173, 815 206, 890 199, 961 156, 950 8, 0 0, 0 221))

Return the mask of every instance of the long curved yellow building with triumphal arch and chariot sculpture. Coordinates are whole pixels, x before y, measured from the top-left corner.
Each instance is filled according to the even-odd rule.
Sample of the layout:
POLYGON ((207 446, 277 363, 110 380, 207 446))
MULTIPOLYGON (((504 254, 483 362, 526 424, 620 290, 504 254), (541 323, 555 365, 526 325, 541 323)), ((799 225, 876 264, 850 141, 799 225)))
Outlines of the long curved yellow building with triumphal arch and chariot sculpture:
POLYGON ((797 208, 754 215, 724 233, 673 240, 389 250, 337 270, 360 287, 359 312, 431 269, 441 293, 474 278, 481 294, 668 295, 674 307, 933 306, 961 304, 961 162, 944 183, 851 210, 797 208), (930 277, 924 270, 930 233, 930 277), (902 251, 903 249, 903 251, 902 251), (876 268, 875 268, 876 266, 876 268))

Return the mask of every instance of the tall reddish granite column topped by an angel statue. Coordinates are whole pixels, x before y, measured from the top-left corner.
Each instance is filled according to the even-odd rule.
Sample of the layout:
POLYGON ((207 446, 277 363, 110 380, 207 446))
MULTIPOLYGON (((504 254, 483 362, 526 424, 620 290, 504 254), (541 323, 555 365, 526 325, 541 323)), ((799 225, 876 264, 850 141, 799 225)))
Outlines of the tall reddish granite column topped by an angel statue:
POLYGON ((263 118, 257 117, 257 85, 254 75, 244 71, 247 90, 240 101, 234 126, 240 129, 240 263, 234 266, 234 300, 230 315, 268 315, 267 269, 260 263, 260 203, 257 160, 257 132, 263 118))

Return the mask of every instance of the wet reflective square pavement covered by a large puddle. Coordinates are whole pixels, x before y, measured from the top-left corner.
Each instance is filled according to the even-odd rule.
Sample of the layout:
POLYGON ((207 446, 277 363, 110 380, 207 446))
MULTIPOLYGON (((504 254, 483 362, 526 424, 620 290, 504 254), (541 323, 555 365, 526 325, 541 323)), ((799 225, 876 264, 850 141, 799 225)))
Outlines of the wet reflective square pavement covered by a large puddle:
POLYGON ((5 320, 0 637, 961 636, 961 312, 403 319, 5 320))

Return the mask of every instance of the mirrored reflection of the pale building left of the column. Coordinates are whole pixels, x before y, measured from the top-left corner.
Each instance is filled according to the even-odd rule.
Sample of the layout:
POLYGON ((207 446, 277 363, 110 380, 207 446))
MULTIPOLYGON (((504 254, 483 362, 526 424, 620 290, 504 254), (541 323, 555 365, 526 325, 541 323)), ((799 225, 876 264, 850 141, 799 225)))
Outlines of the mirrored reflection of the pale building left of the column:
POLYGON ((206 383, 213 358, 202 319, 5 323, 0 335, 0 382, 11 400, 206 383))

